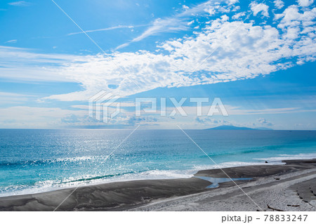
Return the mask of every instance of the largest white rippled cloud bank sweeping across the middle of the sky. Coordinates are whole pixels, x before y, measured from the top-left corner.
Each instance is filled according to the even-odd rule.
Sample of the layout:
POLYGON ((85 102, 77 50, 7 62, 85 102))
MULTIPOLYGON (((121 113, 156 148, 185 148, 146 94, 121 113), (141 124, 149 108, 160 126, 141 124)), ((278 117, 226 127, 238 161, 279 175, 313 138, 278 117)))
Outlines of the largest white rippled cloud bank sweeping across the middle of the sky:
POLYGON ((181 83, 194 86, 251 79, 316 59, 316 9, 304 10, 300 13, 297 6, 289 6, 275 15, 278 27, 218 18, 191 37, 159 44, 157 51, 116 52, 109 55, 111 60, 105 55, 44 55, 0 47, 0 77, 81 84, 84 91, 46 98, 64 101, 87 100, 102 89, 125 96, 181 83))

